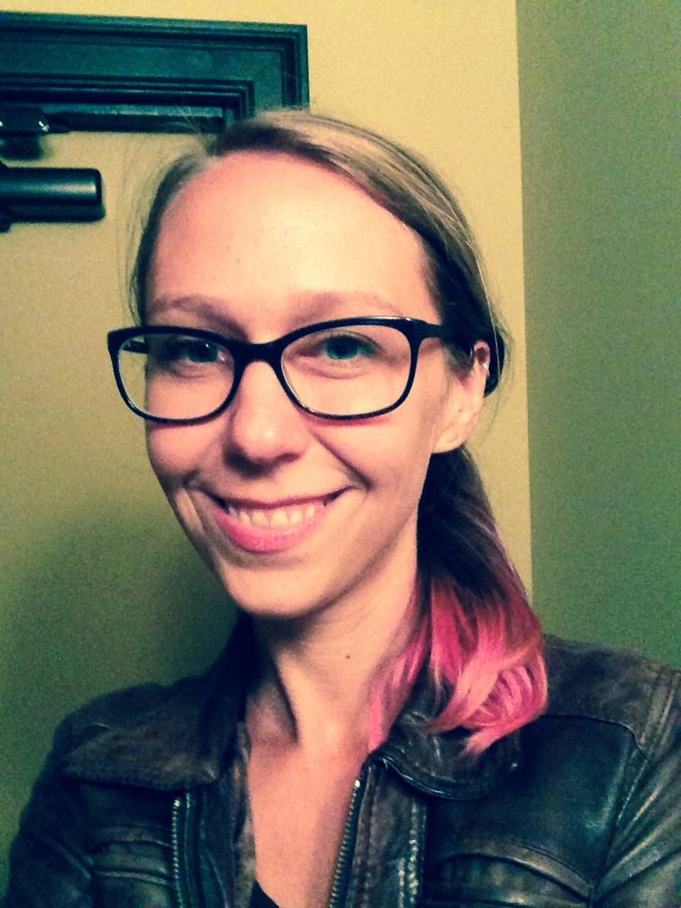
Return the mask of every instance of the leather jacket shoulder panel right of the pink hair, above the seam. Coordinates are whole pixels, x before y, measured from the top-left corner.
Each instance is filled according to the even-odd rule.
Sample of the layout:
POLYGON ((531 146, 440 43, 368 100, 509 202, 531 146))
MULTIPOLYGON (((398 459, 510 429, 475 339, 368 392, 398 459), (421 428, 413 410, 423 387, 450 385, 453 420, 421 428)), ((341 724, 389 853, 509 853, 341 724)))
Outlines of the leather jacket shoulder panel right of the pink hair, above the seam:
POLYGON ((618 725, 646 753, 661 726, 678 727, 681 671, 636 652, 548 636, 543 718, 618 725))

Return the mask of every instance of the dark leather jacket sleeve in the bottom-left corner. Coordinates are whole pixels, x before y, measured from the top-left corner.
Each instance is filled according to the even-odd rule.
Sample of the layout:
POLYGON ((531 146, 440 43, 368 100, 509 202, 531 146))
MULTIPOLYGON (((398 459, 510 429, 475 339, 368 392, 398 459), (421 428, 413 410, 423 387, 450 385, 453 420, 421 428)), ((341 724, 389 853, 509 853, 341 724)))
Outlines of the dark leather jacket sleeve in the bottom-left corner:
POLYGON ((83 847, 78 784, 61 775, 57 730, 10 853, 3 908, 90 908, 90 861, 83 847))

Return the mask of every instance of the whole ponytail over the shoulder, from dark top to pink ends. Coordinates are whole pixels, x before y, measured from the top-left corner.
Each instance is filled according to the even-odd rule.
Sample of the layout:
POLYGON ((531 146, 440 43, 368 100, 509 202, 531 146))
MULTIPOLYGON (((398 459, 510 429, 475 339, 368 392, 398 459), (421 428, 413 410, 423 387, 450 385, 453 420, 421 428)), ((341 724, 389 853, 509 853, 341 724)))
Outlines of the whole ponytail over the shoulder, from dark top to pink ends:
POLYGON ((464 755, 476 756, 546 708, 547 675, 538 617, 465 450, 431 461, 419 509, 419 554, 423 588, 412 598, 415 628, 377 686, 370 749, 386 739, 425 672, 433 706, 425 730, 467 729, 464 755), (449 484, 443 484, 448 472, 449 484), (432 508, 434 494, 438 504, 432 508), (444 543, 433 552, 423 536, 434 530, 444 543), (448 551, 451 560, 443 564, 448 551), (462 564, 460 558, 468 560, 462 564))

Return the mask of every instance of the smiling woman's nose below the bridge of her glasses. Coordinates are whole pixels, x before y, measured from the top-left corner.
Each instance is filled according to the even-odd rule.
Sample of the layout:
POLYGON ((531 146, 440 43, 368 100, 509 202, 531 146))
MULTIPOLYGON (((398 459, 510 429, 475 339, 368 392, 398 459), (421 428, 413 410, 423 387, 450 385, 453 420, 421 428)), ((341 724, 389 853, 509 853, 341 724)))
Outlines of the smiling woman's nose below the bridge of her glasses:
POLYGON ((309 443, 305 414, 266 362, 246 367, 225 416, 224 457, 232 462, 276 464, 300 457, 309 443))

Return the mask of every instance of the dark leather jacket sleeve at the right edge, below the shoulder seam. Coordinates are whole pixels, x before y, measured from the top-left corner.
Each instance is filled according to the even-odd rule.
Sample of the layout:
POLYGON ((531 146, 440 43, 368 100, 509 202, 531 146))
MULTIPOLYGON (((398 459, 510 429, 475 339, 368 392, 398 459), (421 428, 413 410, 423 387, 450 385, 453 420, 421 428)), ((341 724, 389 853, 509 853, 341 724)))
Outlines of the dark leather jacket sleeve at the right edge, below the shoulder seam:
POLYGON ((594 908, 681 906, 680 682, 681 673, 667 668, 658 679, 594 908))

